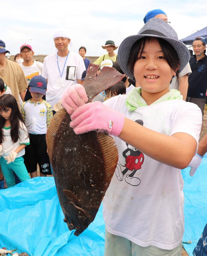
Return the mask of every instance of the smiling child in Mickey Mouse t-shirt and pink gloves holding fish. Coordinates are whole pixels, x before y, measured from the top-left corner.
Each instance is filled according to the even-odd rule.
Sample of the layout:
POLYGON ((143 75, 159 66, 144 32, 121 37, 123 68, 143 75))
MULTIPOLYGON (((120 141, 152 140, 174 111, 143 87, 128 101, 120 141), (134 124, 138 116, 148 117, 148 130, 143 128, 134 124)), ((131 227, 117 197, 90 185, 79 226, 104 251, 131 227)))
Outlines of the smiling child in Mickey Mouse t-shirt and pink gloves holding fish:
POLYGON ((103 200, 104 255, 181 255, 183 178, 196 154, 200 109, 169 85, 190 59, 173 28, 152 18, 123 40, 118 61, 140 87, 104 103, 70 87, 62 105, 76 134, 114 136, 119 161, 103 200))

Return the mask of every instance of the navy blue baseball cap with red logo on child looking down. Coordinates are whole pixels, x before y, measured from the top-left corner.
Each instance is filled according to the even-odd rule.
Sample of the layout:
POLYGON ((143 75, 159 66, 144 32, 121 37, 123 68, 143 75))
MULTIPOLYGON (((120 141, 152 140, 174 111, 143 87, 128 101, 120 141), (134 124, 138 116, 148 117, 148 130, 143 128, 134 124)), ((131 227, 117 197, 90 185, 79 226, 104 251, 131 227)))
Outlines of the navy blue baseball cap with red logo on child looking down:
POLYGON ((37 75, 30 80, 29 87, 31 93, 40 93, 45 95, 47 89, 47 81, 44 77, 37 75))

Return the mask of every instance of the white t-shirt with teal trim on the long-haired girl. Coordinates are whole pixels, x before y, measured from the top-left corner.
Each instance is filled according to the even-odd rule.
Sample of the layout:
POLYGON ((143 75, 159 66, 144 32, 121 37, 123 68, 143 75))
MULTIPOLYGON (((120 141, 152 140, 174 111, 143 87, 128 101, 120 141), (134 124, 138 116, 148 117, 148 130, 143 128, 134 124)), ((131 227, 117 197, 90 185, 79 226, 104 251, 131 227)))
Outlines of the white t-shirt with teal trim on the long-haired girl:
MULTIPOLYGON (((3 154, 1 157, 8 156, 12 151, 15 151, 17 148, 19 148, 20 145, 25 144, 29 145, 29 135, 26 126, 19 121, 19 139, 17 142, 13 143, 10 135, 11 128, 10 127, 3 127, 3 138, 4 141, 1 143, 2 145, 2 151, 3 154)), ((25 154, 25 149, 23 148, 16 157, 21 157, 25 154)))

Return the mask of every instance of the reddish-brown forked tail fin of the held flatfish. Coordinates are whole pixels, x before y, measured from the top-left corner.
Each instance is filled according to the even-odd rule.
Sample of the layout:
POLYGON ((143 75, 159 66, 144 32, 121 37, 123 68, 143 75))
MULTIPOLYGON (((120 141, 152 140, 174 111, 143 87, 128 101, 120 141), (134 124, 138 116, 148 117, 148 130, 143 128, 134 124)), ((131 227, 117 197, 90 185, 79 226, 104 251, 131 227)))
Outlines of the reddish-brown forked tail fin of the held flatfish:
POLYGON ((97 72, 98 65, 90 63, 83 84, 88 95, 88 102, 91 102, 96 95, 118 83, 125 77, 125 75, 122 75, 112 67, 104 66, 101 72, 96 76, 97 72))

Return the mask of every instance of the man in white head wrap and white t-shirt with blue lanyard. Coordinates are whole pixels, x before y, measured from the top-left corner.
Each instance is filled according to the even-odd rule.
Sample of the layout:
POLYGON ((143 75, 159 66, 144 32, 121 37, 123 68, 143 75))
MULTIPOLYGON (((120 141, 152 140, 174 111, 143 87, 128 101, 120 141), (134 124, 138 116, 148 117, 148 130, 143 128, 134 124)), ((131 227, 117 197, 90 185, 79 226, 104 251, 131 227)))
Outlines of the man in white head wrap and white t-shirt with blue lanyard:
POLYGON ((81 84, 85 70, 82 57, 68 50, 71 41, 67 32, 58 30, 53 39, 57 51, 45 57, 42 71, 42 76, 47 80, 46 101, 51 106, 62 98, 69 86, 81 84))

